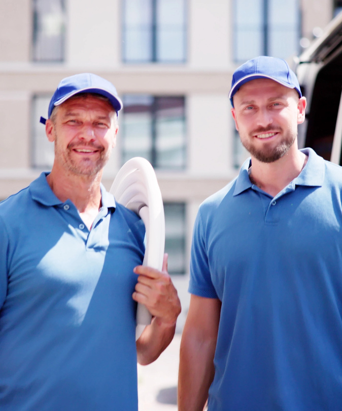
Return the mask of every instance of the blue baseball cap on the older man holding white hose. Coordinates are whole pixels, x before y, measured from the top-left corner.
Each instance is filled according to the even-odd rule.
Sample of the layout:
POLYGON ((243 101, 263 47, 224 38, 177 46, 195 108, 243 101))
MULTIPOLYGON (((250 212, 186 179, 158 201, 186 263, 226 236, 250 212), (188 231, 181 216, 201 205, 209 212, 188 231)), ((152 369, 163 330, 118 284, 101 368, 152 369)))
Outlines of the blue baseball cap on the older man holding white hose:
MULTIPOLYGON (((82 73, 61 80, 50 100, 48 118, 50 118, 55 106, 62 104, 65 100, 78 93, 101 94, 109 99, 116 112, 122 108, 122 101, 119 99, 118 93, 110 81, 96 74, 82 73)), ((40 122, 45 124, 46 119, 41 117, 40 122)))

